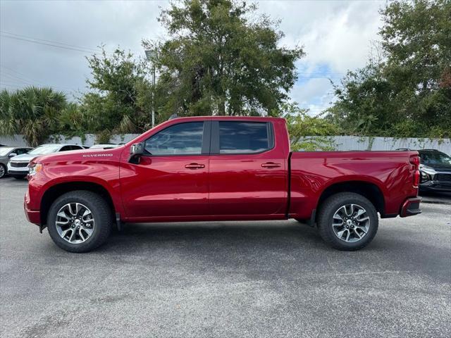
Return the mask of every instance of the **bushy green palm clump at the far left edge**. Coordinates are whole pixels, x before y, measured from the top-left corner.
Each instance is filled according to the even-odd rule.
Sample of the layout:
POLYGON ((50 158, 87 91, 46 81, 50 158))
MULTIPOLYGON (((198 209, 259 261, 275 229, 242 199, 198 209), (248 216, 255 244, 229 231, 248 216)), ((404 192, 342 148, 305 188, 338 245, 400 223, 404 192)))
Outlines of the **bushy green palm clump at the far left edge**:
POLYGON ((0 134, 23 134, 27 144, 42 144, 58 130, 61 110, 66 107, 66 96, 51 88, 27 87, 0 92, 0 134))

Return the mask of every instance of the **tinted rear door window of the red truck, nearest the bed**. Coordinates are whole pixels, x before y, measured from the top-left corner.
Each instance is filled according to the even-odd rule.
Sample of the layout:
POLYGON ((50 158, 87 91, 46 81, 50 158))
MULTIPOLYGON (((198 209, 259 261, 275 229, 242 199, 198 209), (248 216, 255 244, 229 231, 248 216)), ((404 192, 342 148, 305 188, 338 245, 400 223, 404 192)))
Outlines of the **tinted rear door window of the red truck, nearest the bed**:
POLYGON ((259 153, 270 148, 266 123, 219 122, 219 154, 259 153))

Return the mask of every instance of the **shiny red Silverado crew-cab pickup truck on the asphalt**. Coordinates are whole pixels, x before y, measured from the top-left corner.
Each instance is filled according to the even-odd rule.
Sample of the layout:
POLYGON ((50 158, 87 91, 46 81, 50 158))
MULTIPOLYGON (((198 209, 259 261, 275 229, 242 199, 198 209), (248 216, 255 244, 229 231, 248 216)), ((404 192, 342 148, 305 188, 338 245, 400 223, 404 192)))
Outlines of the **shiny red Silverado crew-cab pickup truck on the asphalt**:
POLYGON ((175 118, 116 149, 30 162, 25 213, 73 252, 116 223, 284 220, 331 246, 369 244, 381 218, 420 213, 416 151, 292 152, 282 118, 175 118))

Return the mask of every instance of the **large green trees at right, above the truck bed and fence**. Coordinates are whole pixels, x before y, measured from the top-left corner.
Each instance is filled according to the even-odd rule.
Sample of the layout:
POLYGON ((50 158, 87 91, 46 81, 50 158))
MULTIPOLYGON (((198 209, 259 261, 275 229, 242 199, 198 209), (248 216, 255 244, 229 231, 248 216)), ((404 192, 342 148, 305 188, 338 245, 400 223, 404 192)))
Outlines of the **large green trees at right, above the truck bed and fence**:
POLYGON ((392 1, 381 58, 335 86, 328 118, 354 134, 451 137, 451 1, 392 1))

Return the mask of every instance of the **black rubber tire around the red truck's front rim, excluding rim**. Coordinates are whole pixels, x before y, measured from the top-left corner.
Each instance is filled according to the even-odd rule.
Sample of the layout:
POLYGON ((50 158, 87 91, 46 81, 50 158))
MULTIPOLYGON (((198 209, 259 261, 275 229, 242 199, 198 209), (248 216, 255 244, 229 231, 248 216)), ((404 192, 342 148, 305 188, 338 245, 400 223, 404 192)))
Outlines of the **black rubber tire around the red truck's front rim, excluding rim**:
POLYGON ((108 239, 113 227, 113 213, 103 197, 86 190, 75 190, 63 194, 51 205, 47 216, 47 227, 51 239, 61 249, 70 252, 88 252, 96 249, 108 239), (94 230, 85 242, 73 244, 63 239, 56 229, 56 214, 68 203, 81 203, 92 211, 95 220, 94 230))

